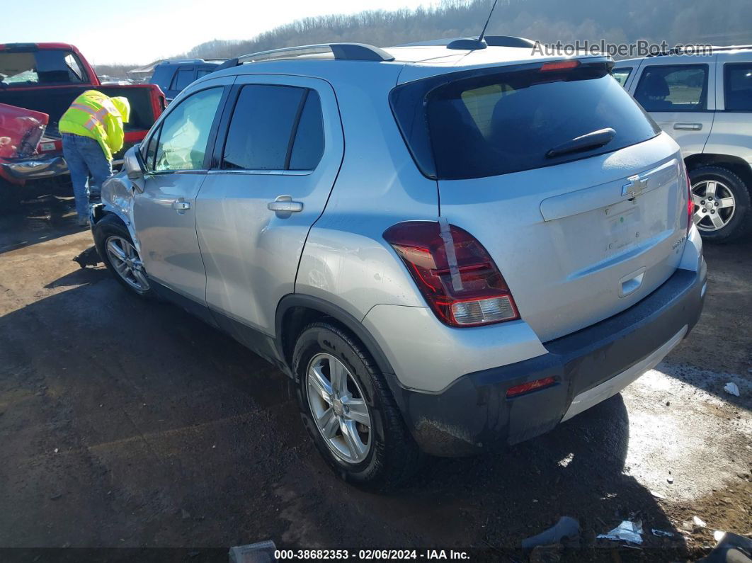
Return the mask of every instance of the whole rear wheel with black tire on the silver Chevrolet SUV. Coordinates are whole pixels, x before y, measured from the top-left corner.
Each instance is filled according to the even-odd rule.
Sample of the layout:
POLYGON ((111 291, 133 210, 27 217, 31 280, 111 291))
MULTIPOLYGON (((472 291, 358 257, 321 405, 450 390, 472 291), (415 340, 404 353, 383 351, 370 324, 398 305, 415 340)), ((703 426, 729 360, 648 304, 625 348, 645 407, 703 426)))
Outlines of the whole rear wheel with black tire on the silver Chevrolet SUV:
POLYGON ((355 337, 333 322, 308 325, 296 341, 293 370, 303 424, 344 480, 384 491, 417 471, 420 450, 355 337))

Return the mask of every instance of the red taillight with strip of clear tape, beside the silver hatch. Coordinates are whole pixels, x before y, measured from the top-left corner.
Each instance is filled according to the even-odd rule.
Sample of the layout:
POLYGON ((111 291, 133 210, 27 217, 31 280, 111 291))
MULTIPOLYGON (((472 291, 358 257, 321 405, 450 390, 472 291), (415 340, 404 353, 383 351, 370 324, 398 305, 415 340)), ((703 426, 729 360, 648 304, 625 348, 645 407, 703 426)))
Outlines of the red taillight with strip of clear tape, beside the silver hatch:
POLYGON ((441 322, 478 326, 520 318, 499 268, 468 232, 445 221, 407 221, 384 238, 441 322))

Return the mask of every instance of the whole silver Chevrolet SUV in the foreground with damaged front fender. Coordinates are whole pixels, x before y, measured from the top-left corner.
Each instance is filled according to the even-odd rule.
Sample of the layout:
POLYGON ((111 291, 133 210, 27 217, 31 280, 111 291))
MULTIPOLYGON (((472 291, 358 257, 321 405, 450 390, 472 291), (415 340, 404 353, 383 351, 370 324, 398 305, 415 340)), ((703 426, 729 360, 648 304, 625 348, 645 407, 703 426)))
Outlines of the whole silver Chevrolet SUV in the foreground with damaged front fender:
POLYGON ((611 59, 530 46, 230 61, 105 184, 99 253, 289 375, 348 480, 542 434, 687 335, 706 268, 678 146, 611 59))

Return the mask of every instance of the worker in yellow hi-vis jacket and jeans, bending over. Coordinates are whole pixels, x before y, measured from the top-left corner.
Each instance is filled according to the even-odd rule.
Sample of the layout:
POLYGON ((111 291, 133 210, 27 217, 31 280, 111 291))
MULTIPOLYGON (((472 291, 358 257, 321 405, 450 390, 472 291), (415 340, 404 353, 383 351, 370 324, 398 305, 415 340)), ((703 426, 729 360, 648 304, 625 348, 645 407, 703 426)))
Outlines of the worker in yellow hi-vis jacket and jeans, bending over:
POLYGON ((87 225, 89 201, 99 198, 102 183, 112 175, 112 155, 123 148, 123 123, 130 112, 127 98, 86 90, 60 118, 62 154, 71 172, 79 226, 87 225))

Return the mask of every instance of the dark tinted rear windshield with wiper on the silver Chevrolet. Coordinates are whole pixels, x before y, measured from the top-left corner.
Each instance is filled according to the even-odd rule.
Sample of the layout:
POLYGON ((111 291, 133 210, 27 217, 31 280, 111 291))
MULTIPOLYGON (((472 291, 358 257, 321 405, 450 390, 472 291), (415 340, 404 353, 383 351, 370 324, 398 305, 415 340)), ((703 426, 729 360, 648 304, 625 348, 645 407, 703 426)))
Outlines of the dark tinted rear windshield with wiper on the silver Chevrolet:
POLYGON ((443 83, 432 78, 399 86, 390 96, 426 176, 458 180, 541 168, 609 153, 660 132, 605 63, 462 74, 468 72, 455 80, 444 76, 443 83), (569 144, 607 128, 613 131, 596 135, 599 142, 607 139, 603 144, 569 144))

